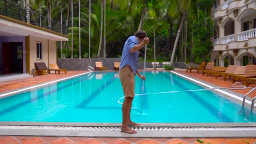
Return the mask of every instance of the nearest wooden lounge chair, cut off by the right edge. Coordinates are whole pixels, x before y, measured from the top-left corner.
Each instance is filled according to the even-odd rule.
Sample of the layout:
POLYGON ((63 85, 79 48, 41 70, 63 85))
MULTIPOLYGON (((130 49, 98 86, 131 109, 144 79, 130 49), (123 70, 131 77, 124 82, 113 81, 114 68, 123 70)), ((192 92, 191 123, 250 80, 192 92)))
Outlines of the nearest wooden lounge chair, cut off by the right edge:
POLYGON ((233 83, 235 83, 236 79, 242 79, 245 81, 245 85, 247 85, 247 78, 253 78, 256 77, 256 65, 248 64, 245 67, 245 73, 243 75, 235 75, 233 76, 233 83))

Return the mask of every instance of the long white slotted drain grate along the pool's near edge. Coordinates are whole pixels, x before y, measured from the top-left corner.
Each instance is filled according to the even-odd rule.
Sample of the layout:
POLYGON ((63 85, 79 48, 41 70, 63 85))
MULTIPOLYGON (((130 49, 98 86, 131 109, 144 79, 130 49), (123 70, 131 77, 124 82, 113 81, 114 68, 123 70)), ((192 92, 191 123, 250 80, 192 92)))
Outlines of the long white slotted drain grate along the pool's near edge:
MULTIPOLYGON (((120 127, 0 125, 3 129, 120 131, 120 127)), ((256 131, 256 127, 132 127, 136 131, 256 131)))

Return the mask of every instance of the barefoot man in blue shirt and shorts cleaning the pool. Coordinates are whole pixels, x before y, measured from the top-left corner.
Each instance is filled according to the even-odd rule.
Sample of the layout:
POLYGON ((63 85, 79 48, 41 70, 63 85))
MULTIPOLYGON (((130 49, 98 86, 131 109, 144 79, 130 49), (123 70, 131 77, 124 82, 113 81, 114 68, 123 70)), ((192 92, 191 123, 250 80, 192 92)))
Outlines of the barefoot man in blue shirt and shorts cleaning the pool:
POLYGON ((135 75, 137 74, 139 78, 145 80, 145 76, 140 75, 137 70, 139 49, 148 43, 149 38, 147 37, 147 33, 140 30, 126 40, 123 48, 119 76, 125 95, 122 107, 123 122, 121 127, 121 131, 125 133, 137 133, 137 131, 129 128, 128 125, 139 125, 131 121, 131 105, 135 95, 135 75))

